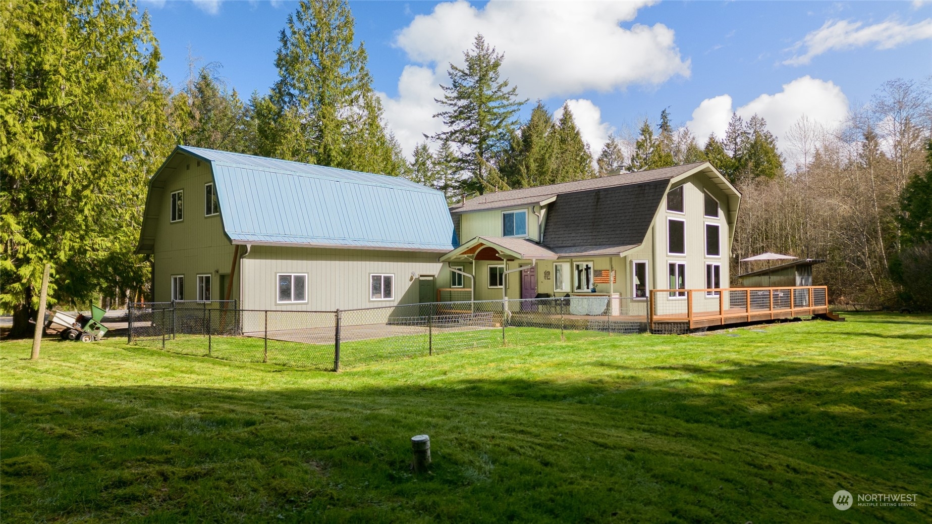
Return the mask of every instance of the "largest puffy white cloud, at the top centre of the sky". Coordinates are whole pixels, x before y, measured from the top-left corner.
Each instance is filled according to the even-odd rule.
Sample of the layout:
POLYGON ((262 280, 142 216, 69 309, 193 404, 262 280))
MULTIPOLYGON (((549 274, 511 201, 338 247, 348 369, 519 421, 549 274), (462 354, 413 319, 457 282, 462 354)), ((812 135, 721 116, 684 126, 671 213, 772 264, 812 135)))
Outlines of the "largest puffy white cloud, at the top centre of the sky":
POLYGON ((395 45, 412 61, 445 70, 449 62, 461 63, 475 34, 483 34, 505 54, 502 75, 532 99, 690 76, 672 29, 662 23, 622 27, 652 3, 493 1, 476 8, 459 0, 415 17, 395 45))

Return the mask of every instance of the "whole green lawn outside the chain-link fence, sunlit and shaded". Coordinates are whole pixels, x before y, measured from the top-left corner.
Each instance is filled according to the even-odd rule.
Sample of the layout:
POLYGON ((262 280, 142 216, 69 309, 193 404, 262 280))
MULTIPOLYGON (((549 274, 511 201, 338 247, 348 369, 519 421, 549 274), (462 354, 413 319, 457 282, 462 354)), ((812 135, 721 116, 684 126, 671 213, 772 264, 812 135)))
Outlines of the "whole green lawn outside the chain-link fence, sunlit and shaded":
POLYGON ((339 374, 5 341, 0 521, 930 521, 932 317, 846 316, 339 374))

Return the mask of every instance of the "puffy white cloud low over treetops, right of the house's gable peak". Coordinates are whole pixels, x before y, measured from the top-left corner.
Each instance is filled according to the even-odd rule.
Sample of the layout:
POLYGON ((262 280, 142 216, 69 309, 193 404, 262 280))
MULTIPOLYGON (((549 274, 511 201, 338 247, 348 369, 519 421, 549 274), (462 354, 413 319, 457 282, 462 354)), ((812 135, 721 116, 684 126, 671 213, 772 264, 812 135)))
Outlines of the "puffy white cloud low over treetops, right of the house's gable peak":
POLYGON ((848 116, 848 97, 831 81, 801 76, 784 84, 782 91, 761 94, 734 110, 727 94, 707 98, 692 111, 692 120, 686 125, 703 145, 710 132, 724 136, 733 112, 745 120, 755 114, 767 120, 767 129, 776 136, 780 151, 789 157, 785 139, 793 124, 805 115, 826 129, 834 129, 848 116))

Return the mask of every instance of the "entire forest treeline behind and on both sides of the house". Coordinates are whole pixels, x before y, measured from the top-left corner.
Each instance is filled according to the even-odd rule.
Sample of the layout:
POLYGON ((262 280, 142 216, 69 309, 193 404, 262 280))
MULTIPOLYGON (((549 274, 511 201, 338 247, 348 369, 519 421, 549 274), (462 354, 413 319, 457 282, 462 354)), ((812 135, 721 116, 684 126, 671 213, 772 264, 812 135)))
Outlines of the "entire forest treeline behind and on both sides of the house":
POLYGON ((279 36, 278 79, 244 99, 214 62, 192 61, 171 86, 132 3, 0 1, 0 310, 13 312, 12 334, 32 329, 45 263, 53 304, 144 296, 150 265, 134 250, 147 182, 177 144, 404 176, 451 201, 708 160, 744 195, 733 263, 762 251, 825 258, 816 281, 836 300, 929 305, 923 83, 884 82, 837 130, 802 118, 782 145, 792 166, 759 116, 695 137, 666 109, 596 153, 569 104, 538 101, 520 120, 528 101, 477 34, 462 65, 449 64, 434 116, 443 131, 409 161, 353 23, 345 1, 301 2, 279 36))

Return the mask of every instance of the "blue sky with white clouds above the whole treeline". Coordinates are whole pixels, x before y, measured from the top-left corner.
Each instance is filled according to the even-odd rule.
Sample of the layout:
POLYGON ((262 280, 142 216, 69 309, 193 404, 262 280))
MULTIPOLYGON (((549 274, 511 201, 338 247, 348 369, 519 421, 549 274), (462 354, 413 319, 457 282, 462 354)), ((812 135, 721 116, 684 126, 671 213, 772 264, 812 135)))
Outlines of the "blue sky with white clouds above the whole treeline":
MULTIPOLYGON (((929 2, 350 2, 386 120, 408 152, 431 115, 446 64, 481 32, 504 52, 522 96, 565 101, 597 154, 668 107, 705 142, 733 111, 783 138, 803 115, 826 127, 885 80, 932 76, 929 2)), ((188 48, 247 98, 275 81, 275 51, 296 2, 144 1, 171 84, 188 48)), ((526 107, 530 110, 532 103, 526 107)))

